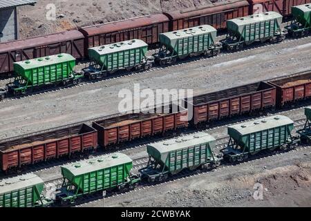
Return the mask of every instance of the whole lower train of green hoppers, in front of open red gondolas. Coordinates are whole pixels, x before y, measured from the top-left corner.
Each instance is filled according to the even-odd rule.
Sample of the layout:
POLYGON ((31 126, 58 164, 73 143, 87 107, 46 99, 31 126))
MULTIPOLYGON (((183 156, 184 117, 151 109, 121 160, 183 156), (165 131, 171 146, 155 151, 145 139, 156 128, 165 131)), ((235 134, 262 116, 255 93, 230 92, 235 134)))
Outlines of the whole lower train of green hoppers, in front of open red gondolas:
POLYGON ((141 183, 173 179, 181 171, 242 162, 264 150, 288 151, 301 142, 310 142, 311 107, 305 108, 305 117, 305 127, 297 131, 297 137, 292 135, 294 122, 283 115, 228 126, 229 142, 221 155, 215 155, 216 139, 206 132, 151 143, 147 145, 147 166, 135 172, 133 160, 123 153, 66 164, 60 166, 63 183, 55 191, 55 200, 41 195, 44 181, 33 173, 8 178, 0 182, 0 207, 73 204, 84 195, 135 189, 141 183))

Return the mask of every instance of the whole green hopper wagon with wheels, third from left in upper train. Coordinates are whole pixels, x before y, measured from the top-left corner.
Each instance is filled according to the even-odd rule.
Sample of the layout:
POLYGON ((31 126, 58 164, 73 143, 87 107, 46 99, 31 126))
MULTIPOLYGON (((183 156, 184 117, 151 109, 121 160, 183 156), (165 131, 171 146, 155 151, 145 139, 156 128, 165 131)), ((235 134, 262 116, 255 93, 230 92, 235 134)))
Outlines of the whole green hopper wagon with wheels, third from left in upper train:
POLYGON ((155 59, 160 64, 171 64, 188 56, 217 55, 221 46, 216 44, 216 34, 217 30, 208 25, 161 33, 155 59))

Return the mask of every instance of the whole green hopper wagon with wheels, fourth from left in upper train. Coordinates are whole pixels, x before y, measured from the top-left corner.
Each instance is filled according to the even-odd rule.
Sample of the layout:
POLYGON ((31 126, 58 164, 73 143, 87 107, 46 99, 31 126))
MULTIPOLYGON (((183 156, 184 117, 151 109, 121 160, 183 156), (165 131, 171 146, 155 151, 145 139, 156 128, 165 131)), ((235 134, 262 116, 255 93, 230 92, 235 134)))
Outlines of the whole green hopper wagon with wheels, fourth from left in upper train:
POLYGON ((283 41, 286 32, 280 27, 282 19, 277 12, 263 12, 227 20, 227 37, 221 41, 223 48, 238 50, 254 41, 283 41))

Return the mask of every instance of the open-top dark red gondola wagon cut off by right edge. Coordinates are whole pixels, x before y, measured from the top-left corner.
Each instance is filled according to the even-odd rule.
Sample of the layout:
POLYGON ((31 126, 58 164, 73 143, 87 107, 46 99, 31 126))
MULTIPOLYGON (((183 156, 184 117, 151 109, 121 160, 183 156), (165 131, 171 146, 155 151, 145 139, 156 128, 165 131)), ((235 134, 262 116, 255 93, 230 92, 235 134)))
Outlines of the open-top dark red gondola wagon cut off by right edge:
POLYGON ((311 73, 297 73, 269 81, 276 87, 277 105, 282 107, 301 99, 311 98, 311 73))

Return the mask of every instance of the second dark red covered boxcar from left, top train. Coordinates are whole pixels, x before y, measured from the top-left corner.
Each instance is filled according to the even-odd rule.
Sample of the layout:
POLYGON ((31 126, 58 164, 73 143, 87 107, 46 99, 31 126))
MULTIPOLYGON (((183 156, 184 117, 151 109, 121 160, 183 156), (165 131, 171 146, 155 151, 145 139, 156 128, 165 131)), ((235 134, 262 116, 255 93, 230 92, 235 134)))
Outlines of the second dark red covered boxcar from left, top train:
POLYGON ((158 35, 169 31, 169 19, 162 14, 103 23, 79 29, 86 37, 86 48, 118 41, 141 39, 147 44, 158 43, 158 35))

